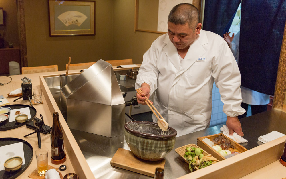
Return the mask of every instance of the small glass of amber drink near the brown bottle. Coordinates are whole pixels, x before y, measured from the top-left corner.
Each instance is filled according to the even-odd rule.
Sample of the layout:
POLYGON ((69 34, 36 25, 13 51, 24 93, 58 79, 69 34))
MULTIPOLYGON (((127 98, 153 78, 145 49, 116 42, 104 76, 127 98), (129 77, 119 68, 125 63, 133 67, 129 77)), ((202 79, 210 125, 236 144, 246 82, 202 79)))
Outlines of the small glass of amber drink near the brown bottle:
POLYGON ((41 147, 35 152, 39 176, 45 176, 45 173, 48 170, 48 152, 49 150, 45 147, 41 147))

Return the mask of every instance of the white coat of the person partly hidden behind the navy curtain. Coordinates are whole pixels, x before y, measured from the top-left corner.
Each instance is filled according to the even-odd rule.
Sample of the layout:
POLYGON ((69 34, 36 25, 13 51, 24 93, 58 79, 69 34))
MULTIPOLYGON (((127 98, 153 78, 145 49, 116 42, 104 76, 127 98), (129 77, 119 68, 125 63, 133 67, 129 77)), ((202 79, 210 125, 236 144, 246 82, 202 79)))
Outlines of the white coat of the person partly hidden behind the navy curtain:
MULTIPOLYGON (((237 63, 239 63, 239 36, 240 32, 237 32, 237 34, 235 34, 233 37, 233 41, 231 42, 231 52, 233 53, 237 63)), ((240 88, 243 103, 249 105, 267 105, 270 102, 270 95, 254 91, 243 86, 240 88)))

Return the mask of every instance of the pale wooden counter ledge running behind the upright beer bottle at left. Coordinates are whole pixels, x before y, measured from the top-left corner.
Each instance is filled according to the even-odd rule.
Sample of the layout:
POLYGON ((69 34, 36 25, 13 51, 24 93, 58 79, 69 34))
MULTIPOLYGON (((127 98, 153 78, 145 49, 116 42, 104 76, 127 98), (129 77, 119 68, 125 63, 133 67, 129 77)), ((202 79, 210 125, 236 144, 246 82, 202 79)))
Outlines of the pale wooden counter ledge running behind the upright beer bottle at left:
MULTIPOLYGON (((80 74, 80 73, 71 73, 71 74, 80 74)), ((60 74, 55 75, 49 75, 49 77, 52 76, 59 76, 60 74)), ((65 139, 65 151, 67 155, 70 158, 70 161, 73 165, 74 171, 81 179, 92 179, 95 178, 92 171, 90 170, 90 167, 88 166, 88 163, 86 162, 86 159, 84 158, 84 155, 82 154, 82 151, 80 150, 80 147, 78 146, 74 136, 72 135, 72 132, 70 131, 67 123, 65 122, 65 119, 63 118, 63 115, 60 113, 60 110, 53 99, 53 95, 51 92, 47 89, 49 87, 47 86, 45 82, 46 76, 40 76, 40 86, 42 87, 42 93, 46 99, 46 103, 49 107, 49 111, 52 114, 55 111, 59 111, 59 122, 61 124, 61 127, 63 129, 63 135, 65 139)))

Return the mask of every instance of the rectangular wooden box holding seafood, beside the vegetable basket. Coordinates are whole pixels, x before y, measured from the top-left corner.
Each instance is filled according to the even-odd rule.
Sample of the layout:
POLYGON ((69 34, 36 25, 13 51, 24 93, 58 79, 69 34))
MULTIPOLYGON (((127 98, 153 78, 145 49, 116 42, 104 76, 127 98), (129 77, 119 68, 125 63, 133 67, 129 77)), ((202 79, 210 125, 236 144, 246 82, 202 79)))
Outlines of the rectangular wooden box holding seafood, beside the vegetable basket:
POLYGON ((229 137, 227 137, 226 135, 224 135, 222 133, 214 134, 214 135, 208 135, 208 136, 204 136, 204 137, 198 137, 197 145, 200 146, 203 150, 205 150, 209 154, 212 154, 212 156, 217 158, 219 161, 225 160, 225 158, 223 156, 221 156, 221 154, 219 154, 216 150, 214 150, 212 147, 210 147, 208 144, 206 144, 204 141, 202 141, 205 138, 208 138, 212 141, 214 138, 219 137, 220 135, 223 135, 226 139, 228 139, 231 142, 231 145, 233 145, 235 147, 235 148, 229 148, 228 149, 229 151, 239 152, 239 153, 247 151, 246 148, 244 148, 239 143, 233 141, 232 139, 230 139, 229 137))

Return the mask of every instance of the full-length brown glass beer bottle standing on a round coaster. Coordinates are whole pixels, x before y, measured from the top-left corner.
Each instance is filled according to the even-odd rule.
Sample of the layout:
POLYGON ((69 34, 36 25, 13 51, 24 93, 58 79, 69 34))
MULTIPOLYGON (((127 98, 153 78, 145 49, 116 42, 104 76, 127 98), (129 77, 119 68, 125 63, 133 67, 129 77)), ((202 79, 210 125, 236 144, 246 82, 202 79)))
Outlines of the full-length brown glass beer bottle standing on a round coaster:
POLYGON ((53 113, 53 128, 51 131, 51 158, 61 160, 65 157, 63 146, 63 131, 59 125, 59 113, 53 113))

